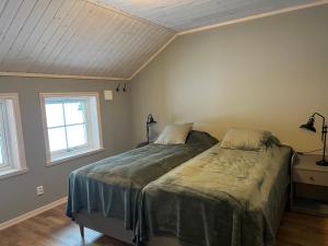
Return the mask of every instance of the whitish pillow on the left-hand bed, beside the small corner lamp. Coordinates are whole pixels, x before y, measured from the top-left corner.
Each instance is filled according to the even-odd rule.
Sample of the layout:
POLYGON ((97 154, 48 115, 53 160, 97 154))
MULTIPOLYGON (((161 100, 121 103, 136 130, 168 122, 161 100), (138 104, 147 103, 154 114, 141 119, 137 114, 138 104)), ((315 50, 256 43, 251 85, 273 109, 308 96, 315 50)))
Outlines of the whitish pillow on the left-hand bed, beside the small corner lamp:
POLYGON ((194 124, 172 124, 164 128, 155 143, 178 144, 185 143, 194 124))

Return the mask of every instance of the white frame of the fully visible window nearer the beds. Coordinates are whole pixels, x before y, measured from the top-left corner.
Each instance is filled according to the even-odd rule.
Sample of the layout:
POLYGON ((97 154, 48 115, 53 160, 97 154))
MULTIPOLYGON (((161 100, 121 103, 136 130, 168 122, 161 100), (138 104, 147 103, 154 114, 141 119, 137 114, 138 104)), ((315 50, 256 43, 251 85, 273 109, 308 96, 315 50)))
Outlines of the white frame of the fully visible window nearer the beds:
MULTIPOLYGON (((57 165, 65 163, 70 160, 80 159, 86 155, 91 155, 94 153, 97 153, 99 151, 104 150, 103 147, 103 133, 102 133, 102 120, 101 120, 101 104, 99 104, 99 93, 97 92, 63 92, 63 93, 39 93, 40 98, 40 109, 42 109, 42 119, 43 119, 43 128, 44 128, 44 137, 45 137, 45 145, 46 145, 46 165, 57 165), (89 128, 92 129, 92 132, 96 132, 97 136, 93 136, 93 138, 90 138, 90 134, 92 132, 87 131, 87 138, 89 140, 97 139, 96 143, 94 142, 87 142, 85 145, 77 147, 70 149, 70 153, 67 151, 57 151, 55 152, 55 157, 52 157, 54 152, 50 152, 49 147, 49 137, 48 137, 48 126, 47 126, 47 116, 46 116, 46 101, 48 98, 68 98, 68 101, 81 101, 85 99, 89 101, 90 97, 95 97, 96 102, 96 109, 91 110, 87 108, 87 112, 90 114, 94 114, 93 117, 96 117, 95 120, 93 120, 91 117, 87 117, 85 119, 85 125, 89 126, 89 128), (75 97, 75 98, 74 98, 75 97), (94 145, 96 145, 94 148, 94 145)), ((87 104, 89 105, 89 104, 87 104)), ((82 124, 81 124, 82 125, 82 124)), ((67 127, 69 125, 65 125, 63 127, 67 127)))

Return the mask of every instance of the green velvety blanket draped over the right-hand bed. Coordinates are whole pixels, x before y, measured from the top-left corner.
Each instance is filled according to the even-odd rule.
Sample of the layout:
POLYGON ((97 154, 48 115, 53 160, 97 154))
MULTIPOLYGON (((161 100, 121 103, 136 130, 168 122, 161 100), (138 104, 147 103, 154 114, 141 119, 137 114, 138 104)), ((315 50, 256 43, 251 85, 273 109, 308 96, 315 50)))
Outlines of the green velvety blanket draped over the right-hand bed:
POLYGON ((219 144, 142 190, 137 245, 150 235, 186 246, 274 244, 274 216, 289 184, 292 150, 263 152, 219 144))

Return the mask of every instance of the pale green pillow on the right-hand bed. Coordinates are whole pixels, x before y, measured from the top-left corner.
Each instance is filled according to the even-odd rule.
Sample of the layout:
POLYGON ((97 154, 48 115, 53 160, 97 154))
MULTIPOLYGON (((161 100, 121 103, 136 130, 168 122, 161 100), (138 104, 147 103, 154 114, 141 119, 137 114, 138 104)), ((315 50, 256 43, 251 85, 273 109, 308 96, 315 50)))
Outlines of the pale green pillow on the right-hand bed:
POLYGON ((231 128, 224 136, 221 148, 246 151, 261 151, 271 138, 270 131, 231 128))

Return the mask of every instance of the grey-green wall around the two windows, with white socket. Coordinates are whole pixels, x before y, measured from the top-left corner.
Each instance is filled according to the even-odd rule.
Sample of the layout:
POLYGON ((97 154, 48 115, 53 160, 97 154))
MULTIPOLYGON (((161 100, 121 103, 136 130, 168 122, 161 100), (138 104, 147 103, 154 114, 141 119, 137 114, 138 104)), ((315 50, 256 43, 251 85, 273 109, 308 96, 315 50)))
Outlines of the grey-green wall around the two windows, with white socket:
POLYGON ((110 81, 0 78, 0 93, 14 92, 20 96, 28 167, 24 175, 0 179, 0 223, 67 196, 72 169, 131 148, 129 89, 126 93, 115 92, 113 102, 104 101, 103 91, 115 91, 116 84, 110 81), (99 92, 105 151, 47 167, 39 92, 99 92), (35 188, 39 185, 44 185, 45 195, 37 197, 35 188))

